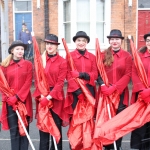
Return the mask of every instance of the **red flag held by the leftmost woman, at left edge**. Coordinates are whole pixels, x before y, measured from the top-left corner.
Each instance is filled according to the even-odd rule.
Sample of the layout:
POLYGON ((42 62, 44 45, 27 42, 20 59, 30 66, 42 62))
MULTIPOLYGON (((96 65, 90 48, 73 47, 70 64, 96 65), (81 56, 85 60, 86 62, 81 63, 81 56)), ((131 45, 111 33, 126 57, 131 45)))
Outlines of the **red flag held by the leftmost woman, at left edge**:
MULTIPOLYGON (((8 82, 4 76, 1 68, 0 68, 0 91, 3 92, 7 97, 11 97, 11 96, 15 95, 14 90, 12 90, 9 87, 8 82)), ((24 125, 27 126, 28 125, 28 122, 26 120, 27 110, 26 110, 25 105, 18 101, 16 104, 16 107, 19 111, 20 117, 21 117, 24 125)), ((9 129, 8 121, 7 121, 6 101, 3 101, 3 105, 2 105, 1 123, 3 124, 4 127, 6 127, 6 128, 3 128, 4 130, 9 129)), ((22 128, 22 125, 21 125, 19 119, 18 119, 18 127, 19 127, 20 135, 25 136, 26 134, 24 132, 24 129, 22 128)))

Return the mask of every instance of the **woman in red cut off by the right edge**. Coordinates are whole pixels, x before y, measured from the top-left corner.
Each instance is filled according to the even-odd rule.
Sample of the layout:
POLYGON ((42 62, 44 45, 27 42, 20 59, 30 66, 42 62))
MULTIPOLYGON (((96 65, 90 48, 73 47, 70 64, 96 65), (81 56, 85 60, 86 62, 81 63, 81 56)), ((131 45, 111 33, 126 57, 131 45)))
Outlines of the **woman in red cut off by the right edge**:
MULTIPOLYGON (((139 56, 145 68, 145 72, 147 74, 148 83, 150 85, 150 33, 144 35, 144 40, 146 42, 146 46, 139 49, 139 56)), ((143 83, 141 82, 136 67, 133 64, 132 67, 132 81, 133 81, 133 89, 132 89, 132 98, 131 104, 135 103, 137 97, 140 95, 141 99, 145 101, 146 104, 150 102, 150 88, 145 88, 143 83)), ((150 138, 150 124, 146 123, 144 126, 135 129, 131 133, 131 149, 133 150, 147 150, 150 149, 149 138, 150 138), (143 141, 143 142, 142 142, 143 141)))

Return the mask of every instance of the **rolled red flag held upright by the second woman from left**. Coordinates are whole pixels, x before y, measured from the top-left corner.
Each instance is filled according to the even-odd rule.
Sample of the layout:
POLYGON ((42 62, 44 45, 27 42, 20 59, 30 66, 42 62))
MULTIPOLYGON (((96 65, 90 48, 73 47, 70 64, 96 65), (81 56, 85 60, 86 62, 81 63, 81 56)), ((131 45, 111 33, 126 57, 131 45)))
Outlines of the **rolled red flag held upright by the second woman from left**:
MULTIPOLYGON (((41 94, 47 96, 49 94, 49 85, 46 81, 46 77, 44 74, 43 63, 39 51, 39 47, 35 37, 32 37, 33 46, 34 46, 34 65, 35 65, 35 72, 36 72, 36 80, 37 86, 40 90, 41 94)), ((37 127, 44 131, 50 133, 52 136, 55 137, 56 142, 58 143, 60 140, 60 132, 56 127, 56 124, 52 118, 52 115, 49 111, 49 108, 52 107, 52 101, 49 101, 49 106, 43 108, 41 105, 38 105, 38 116, 37 116, 37 127)))

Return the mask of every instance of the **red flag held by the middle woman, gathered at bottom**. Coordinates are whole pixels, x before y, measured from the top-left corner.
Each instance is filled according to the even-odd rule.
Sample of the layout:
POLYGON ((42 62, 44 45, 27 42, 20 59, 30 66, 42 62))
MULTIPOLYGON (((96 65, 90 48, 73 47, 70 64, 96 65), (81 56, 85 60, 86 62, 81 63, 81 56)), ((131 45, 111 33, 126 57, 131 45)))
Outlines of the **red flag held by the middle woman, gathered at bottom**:
MULTIPOLYGON (((76 70, 76 66, 68 50, 65 39, 62 39, 67 59, 72 70, 76 70)), ((94 130, 94 112, 95 99, 88 91, 81 79, 76 78, 75 81, 80 85, 84 100, 79 100, 73 112, 72 121, 68 130, 68 138, 72 149, 88 150, 92 145, 92 136, 94 130)))

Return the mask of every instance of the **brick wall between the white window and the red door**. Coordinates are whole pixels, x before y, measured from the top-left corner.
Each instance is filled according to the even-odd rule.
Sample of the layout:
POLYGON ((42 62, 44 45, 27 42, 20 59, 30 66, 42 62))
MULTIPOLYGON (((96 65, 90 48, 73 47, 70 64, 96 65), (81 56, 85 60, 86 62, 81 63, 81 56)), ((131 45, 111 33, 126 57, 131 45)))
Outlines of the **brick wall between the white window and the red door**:
POLYGON ((127 36, 130 34, 136 41, 136 7, 137 0, 132 0, 132 6, 128 6, 128 0, 111 0, 111 28, 120 29, 125 37, 122 47, 127 49, 127 36))

